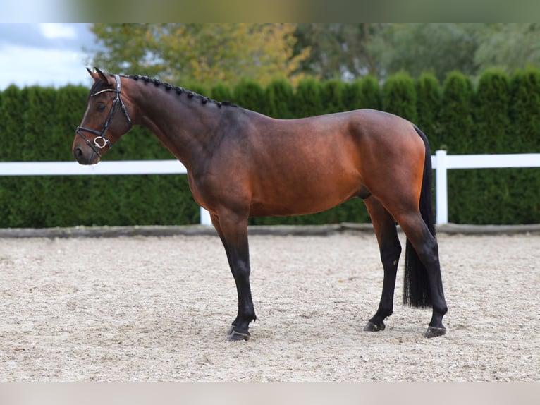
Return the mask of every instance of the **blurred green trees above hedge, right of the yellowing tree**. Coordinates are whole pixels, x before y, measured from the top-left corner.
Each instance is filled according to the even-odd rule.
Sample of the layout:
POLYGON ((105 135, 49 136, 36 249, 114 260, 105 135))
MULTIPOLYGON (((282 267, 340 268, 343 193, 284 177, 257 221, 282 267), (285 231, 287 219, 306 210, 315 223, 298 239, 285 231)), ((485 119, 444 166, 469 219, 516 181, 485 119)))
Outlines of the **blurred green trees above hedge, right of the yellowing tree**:
POLYGON ((407 71, 442 82, 450 71, 540 66, 539 23, 299 23, 295 37, 295 52, 311 51, 300 71, 323 80, 407 71))

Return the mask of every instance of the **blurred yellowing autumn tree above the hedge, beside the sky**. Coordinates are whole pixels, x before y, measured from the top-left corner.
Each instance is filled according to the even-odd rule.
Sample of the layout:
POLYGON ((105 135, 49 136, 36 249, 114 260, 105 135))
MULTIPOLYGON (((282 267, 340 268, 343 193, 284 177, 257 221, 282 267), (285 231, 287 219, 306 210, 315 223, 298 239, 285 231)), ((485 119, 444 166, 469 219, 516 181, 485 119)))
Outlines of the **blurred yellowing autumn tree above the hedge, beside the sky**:
POLYGON ((98 50, 91 59, 115 73, 137 73, 173 83, 241 79, 267 85, 274 78, 296 84, 309 47, 293 55, 291 23, 94 23, 98 50))

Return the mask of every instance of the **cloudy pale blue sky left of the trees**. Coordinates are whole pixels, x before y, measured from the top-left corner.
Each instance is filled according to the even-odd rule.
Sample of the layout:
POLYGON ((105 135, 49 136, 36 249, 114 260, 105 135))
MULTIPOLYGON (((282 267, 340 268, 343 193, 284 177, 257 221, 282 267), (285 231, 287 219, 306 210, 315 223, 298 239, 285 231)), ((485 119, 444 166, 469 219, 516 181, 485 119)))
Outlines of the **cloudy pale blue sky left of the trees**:
POLYGON ((89 86, 82 48, 95 46, 87 23, 0 23, 0 90, 11 84, 89 86))

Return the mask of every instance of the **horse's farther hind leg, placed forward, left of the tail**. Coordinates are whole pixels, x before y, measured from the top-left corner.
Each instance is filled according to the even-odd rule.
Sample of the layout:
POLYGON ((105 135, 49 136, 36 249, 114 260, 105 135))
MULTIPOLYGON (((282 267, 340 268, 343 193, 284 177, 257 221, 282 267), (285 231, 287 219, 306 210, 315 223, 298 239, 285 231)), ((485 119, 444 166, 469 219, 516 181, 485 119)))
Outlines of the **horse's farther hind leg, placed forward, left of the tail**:
POLYGON ((365 331, 378 332, 384 330, 384 319, 393 313, 395 277, 398 272, 398 262, 401 253, 401 245, 395 221, 391 214, 381 205, 373 195, 364 200, 364 203, 372 217, 372 224, 376 234, 379 249, 381 250, 381 262, 384 269, 383 292, 379 309, 372 319, 364 327, 365 331))

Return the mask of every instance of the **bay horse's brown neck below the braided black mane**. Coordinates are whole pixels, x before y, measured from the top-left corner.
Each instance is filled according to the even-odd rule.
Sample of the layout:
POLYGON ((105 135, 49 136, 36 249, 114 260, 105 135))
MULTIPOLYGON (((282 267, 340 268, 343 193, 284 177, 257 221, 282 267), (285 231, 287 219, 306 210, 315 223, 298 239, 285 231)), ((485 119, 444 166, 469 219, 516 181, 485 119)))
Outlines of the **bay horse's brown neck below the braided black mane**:
POLYGON ((175 90, 137 85, 135 123, 154 133, 189 170, 208 150, 219 119, 217 106, 202 104, 200 97, 177 95, 175 90))

